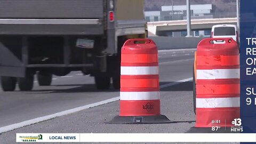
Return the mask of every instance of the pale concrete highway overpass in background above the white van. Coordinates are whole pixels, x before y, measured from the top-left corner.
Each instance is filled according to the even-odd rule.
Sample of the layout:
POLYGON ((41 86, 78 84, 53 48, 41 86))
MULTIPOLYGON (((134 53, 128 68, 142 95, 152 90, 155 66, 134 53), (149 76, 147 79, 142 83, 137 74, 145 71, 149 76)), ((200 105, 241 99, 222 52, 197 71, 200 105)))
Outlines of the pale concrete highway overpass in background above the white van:
MULTIPOLYGON (((211 29, 213 25, 231 24, 236 25, 236 18, 224 19, 195 19, 191 20, 191 30, 211 29)), ((148 31, 151 34, 157 35, 161 31, 182 31, 187 29, 187 20, 177 21, 156 21, 148 22, 148 31)))

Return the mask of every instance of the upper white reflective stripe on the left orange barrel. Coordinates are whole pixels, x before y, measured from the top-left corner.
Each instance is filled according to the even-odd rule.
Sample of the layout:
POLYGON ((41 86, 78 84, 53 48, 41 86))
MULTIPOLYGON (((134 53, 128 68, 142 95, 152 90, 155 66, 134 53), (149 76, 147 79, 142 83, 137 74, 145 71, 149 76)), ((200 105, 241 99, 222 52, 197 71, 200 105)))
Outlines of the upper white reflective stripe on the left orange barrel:
POLYGON ((158 66, 154 67, 121 67, 121 75, 158 75, 158 66))

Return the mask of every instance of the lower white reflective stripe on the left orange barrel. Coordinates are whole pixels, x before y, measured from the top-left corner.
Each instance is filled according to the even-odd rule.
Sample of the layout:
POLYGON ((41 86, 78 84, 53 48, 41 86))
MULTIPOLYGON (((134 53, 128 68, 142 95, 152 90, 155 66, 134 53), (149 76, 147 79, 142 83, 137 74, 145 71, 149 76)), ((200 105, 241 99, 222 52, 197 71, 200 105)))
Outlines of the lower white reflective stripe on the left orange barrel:
POLYGON ((120 100, 159 100, 159 92, 120 92, 120 100))

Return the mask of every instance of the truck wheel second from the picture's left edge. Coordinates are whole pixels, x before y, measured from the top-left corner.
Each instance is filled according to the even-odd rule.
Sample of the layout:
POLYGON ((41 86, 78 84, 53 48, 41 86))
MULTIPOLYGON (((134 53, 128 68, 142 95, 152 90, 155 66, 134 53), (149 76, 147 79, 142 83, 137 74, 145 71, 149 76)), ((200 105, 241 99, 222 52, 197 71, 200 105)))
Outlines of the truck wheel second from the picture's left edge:
POLYGON ((26 77, 19 77, 18 84, 20 91, 31 91, 34 86, 34 75, 27 74, 26 77))

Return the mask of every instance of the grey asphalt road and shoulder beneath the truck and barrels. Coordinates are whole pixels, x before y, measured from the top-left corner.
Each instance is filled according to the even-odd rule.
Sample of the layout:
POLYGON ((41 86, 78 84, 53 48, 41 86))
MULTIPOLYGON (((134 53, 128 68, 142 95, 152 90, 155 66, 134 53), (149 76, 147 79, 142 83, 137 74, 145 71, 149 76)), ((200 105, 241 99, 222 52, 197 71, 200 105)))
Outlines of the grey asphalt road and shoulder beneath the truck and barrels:
POLYGON ((161 114, 174 123, 106 124, 119 114, 119 101, 116 99, 119 91, 113 88, 97 91, 93 78, 77 71, 66 77, 54 77, 51 86, 38 86, 35 81, 30 92, 0 91, 0 130, 22 122, 33 123, 28 121, 30 119, 62 115, 3 132, 0 143, 14 143, 16 133, 185 133, 195 126, 191 81, 194 51, 161 50, 158 53, 161 114), (102 101, 106 104, 101 105, 99 102, 102 101), (75 113, 72 110, 59 113, 69 109, 75 113))

